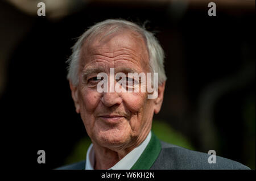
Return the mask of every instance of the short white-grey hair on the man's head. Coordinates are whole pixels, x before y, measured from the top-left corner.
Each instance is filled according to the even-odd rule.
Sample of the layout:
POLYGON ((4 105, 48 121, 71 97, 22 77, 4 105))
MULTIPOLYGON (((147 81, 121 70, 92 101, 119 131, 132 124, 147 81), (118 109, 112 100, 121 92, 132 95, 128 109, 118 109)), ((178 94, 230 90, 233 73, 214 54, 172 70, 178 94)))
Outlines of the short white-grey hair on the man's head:
POLYGON ((139 35, 141 35, 144 38, 148 50, 148 57, 150 59, 149 65, 152 73, 158 73, 158 82, 160 85, 162 85, 162 83, 166 81, 167 78, 164 72, 164 51, 160 44, 158 43, 158 40, 155 38, 154 34, 148 32, 144 27, 140 27, 137 24, 129 22, 127 20, 107 19, 103 22, 97 23, 94 26, 90 27, 79 37, 75 45, 72 47, 72 55, 69 57, 67 61, 67 78, 69 79, 69 81, 72 82, 74 86, 77 86, 79 83, 80 51, 84 41, 89 37, 95 37, 100 33, 104 32, 106 32, 104 36, 108 36, 121 28, 138 32, 139 35), (106 28, 108 28, 107 31, 106 28))

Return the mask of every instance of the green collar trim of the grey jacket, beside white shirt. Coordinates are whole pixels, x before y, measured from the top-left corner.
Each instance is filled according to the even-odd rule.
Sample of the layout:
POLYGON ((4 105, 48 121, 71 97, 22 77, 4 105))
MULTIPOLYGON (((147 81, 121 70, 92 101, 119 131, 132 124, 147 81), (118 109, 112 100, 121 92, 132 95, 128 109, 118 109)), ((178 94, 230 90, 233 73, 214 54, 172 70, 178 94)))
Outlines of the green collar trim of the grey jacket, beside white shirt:
POLYGON ((161 151, 160 140, 151 131, 151 139, 146 149, 143 151, 137 162, 131 167, 131 170, 148 170, 154 164, 161 151))

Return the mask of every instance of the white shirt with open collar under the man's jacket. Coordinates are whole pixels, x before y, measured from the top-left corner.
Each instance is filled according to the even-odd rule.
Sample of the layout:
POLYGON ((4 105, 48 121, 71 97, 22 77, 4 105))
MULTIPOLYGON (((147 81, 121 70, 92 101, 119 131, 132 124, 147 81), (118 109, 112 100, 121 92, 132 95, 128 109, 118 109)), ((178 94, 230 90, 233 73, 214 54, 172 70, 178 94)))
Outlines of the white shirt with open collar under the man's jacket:
MULTIPOLYGON (((151 131, 148 133, 146 139, 135 149, 131 150, 130 153, 125 155, 119 162, 115 163, 113 167, 109 170, 130 170, 131 167, 137 162, 144 149, 147 147, 151 139, 151 131)), ((90 144, 85 162, 85 170, 93 170, 95 161, 95 153, 93 149, 93 144, 90 144)))

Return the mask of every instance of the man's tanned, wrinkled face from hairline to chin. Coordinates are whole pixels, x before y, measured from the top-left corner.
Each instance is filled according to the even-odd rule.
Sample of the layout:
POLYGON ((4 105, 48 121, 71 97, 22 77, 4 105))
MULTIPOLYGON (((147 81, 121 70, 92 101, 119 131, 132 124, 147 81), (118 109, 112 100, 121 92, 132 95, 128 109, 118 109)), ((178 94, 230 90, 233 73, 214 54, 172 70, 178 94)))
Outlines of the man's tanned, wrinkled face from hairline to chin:
MULTIPOLYGON (((148 52, 141 36, 119 31, 84 43, 80 54, 79 85, 71 84, 77 113, 81 114, 92 142, 112 150, 130 148, 144 140, 152 116, 160 110, 146 92, 98 92, 97 74, 151 72, 148 52)), ((110 81, 109 81, 110 82, 110 81)), ((160 101, 162 104, 162 100, 160 101)))

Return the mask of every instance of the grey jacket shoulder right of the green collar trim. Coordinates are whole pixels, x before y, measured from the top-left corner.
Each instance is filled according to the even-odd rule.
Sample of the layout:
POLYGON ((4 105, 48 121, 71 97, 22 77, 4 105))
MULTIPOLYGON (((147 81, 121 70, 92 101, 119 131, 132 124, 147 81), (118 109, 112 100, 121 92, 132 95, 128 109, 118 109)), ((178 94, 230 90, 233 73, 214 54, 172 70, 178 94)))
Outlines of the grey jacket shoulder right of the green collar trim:
POLYGON ((250 169, 239 162, 216 156, 216 163, 209 163, 207 153, 181 148, 161 141, 162 150, 151 169, 189 170, 243 170, 250 169))

